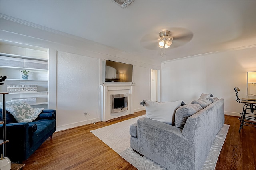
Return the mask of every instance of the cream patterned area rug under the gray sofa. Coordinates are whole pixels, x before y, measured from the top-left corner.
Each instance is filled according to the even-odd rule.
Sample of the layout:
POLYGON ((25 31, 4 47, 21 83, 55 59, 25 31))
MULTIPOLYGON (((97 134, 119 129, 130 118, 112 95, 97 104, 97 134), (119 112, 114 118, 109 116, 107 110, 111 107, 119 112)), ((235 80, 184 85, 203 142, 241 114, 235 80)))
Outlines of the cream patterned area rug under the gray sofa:
MULTIPOLYGON (((116 124, 112 124, 103 128, 96 130, 91 130, 95 136, 112 148, 116 153, 118 153, 122 158, 130 162, 138 170, 167 170, 163 166, 160 166, 156 162, 148 159, 146 156, 140 156, 130 148, 130 125, 137 122, 139 118, 145 117, 146 115, 132 118, 129 120, 124 120, 116 124)), ((228 133, 229 125, 224 124, 220 129, 214 143, 212 144, 210 153, 202 170, 214 170, 218 157, 220 155, 221 148, 226 139, 228 133)))

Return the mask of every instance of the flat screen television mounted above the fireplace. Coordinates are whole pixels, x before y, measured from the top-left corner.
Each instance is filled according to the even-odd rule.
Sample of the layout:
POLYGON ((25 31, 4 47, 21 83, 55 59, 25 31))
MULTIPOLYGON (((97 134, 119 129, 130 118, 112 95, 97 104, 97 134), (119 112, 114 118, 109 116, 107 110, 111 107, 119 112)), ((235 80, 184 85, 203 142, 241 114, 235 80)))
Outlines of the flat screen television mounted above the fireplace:
POLYGON ((104 60, 105 82, 132 82, 132 64, 104 60))

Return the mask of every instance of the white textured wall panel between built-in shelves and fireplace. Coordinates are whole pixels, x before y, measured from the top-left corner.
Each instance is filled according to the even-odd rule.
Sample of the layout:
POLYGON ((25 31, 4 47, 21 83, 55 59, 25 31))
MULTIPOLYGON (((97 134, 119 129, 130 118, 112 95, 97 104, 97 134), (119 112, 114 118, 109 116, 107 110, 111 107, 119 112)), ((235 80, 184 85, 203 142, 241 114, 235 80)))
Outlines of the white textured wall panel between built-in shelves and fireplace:
POLYGON ((57 110, 60 130, 100 121, 99 60, 58 51, 57 110), (83 115, 87 112, 88 115, 83 115))

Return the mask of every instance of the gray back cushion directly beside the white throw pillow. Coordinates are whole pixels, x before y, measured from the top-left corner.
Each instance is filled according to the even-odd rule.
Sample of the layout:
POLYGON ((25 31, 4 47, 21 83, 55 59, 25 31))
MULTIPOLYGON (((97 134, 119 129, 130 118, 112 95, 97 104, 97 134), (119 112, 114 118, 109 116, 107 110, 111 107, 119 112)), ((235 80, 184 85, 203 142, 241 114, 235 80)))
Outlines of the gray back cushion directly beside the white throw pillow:
POLYGON ((197 103, 180 106, 180 108, 178 108, 175 113, 175 126, 178 128, 183 128, 188 117, 202 109, 203 108, 197 103))

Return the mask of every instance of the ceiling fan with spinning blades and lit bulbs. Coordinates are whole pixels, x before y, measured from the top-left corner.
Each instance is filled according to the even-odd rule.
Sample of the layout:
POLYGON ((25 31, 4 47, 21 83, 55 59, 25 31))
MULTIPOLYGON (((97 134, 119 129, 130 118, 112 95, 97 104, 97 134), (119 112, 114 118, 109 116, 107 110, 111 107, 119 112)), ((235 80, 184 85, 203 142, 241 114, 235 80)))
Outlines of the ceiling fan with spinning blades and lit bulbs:
POLYGON ((148 50, 157 50, 160 48, 177 48, 190 42, 193 33, 181 27, 173 27, 162 30, 157 34, 156 30, 150 34, 146 34, 140 40, 142 47, 148 50), (171 31, 170 31, 171 30, 171 31))

